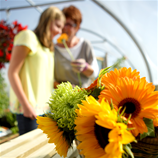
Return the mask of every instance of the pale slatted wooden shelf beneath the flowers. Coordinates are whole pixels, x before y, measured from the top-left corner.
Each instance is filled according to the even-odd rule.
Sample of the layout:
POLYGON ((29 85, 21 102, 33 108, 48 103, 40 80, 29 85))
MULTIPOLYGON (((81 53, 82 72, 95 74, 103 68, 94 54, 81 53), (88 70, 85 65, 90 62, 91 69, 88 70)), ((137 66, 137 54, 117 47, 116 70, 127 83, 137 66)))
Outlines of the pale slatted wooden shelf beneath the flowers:
MULTIPOLYGON (((48 143, 48 138, 40 129, 35 129, 8 142, 0 144, 1 158, 61 158, 55 145, 48 143)), ((67 158, 78 158, 75 142, 68 151, 67 158)))

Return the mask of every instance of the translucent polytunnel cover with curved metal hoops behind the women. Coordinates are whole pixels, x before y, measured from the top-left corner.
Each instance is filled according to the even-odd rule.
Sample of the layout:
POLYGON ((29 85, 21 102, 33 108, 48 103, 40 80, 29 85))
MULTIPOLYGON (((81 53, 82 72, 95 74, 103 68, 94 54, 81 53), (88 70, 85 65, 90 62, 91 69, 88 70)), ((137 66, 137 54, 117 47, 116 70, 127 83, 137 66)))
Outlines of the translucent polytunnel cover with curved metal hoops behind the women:
POLYGON ((80 9, 78 36, 91 42, 95 56, 106 59, 106 66, 125 56, 123 66, 137 69, 141 77, 158 85, 157 0, 1 0, 0 20, 17 20, 33 30, 50 5, 80 9))

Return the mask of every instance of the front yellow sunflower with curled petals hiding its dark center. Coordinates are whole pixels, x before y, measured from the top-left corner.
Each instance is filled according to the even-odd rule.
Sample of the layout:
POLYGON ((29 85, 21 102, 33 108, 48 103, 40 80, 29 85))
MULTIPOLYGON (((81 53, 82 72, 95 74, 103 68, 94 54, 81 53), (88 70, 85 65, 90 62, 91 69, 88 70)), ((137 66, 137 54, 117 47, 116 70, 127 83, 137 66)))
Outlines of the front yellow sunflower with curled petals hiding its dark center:
POLYGON ((77 146, 81 150, 80 154, 86 158, 119 158, 120 155, 122 156, 123 144, 130 143, 135 138, 124 128, 123 123, 117 123, 116 110, 111 110, 110 105, 104 99, 99 103, 92 96, 87 97, 82 104, 78 105, 79 109, 76 109, 75 120, 76 137, 81 142, 77 146), (128 138, 126 138, 127 135, 128 138), (109 152, 108 148, 111 145, 115 148, 110 149, 109 152))

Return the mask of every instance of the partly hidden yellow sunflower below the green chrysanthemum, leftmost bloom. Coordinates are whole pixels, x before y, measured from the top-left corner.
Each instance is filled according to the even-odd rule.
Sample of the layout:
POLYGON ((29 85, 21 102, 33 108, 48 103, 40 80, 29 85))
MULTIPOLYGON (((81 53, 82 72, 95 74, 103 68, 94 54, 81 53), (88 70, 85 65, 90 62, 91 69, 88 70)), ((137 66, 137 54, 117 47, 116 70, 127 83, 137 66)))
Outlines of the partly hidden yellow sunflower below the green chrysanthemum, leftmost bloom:
POLYGON ((60 156, 67 156, 67 151, 69 144, 63 137, 63 131, 58 129, 56 121, 49 117, 37 116, 38 128, 43 130, 43 133, 47 134, 49 138, 48 143, 54 143, 56 145, 55 149, 60 156))

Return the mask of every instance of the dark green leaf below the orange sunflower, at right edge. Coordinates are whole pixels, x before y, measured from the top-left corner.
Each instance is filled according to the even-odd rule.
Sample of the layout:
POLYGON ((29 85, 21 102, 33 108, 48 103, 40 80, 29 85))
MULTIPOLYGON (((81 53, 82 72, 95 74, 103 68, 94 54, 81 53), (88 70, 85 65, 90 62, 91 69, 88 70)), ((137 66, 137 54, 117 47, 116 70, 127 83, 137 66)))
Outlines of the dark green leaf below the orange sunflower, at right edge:
POLYGON ((148 118, 144 118, 143 119, 147 128, 148 128, 148 132, 144 132, 143 134, 140 134, 140 140, 142 140, 143 138, 150 136, 150 137, 155 137, 155 128, 153 125, 153 120, 152 119, 148 119, 148 118))

